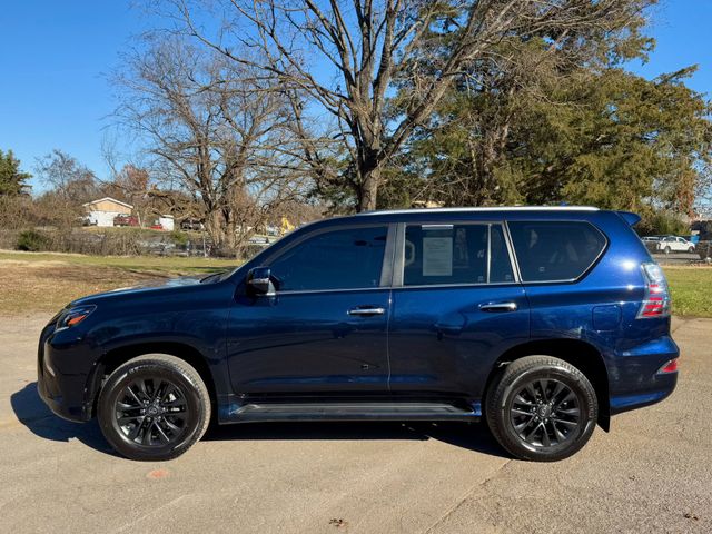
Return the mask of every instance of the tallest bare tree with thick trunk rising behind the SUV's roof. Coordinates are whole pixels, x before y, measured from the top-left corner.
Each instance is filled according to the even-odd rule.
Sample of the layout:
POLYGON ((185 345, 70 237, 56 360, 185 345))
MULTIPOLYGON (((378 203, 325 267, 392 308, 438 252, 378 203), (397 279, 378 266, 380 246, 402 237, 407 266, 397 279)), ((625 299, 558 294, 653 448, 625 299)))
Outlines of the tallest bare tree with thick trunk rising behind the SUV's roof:
MULTIPOLYGON (((357 209, 373 209, 383 170, 426 122, 454 78, 496 53, 507 36, 571 39, 606 31, 635 2, 619 0, 167 0, 181 31, 230 59, 277 77, 338 123, 352 167, 342 178, 357 209), (215 32, 205 8, 226 13, 215 32), (614 21, 614 22, 612 22, 614 21), (209 27, 208 27, 209 28, 209 27), (256 56, 240 53, 245 49, 256 56), (258 59, 255 59, 257 57, 258 59), (397 85, 414 88, 400 113, 388 113, 397 85)), ((166 2, 164 2, 166 3, 166 2)), ((633 6, 634 7, 634 6, 633 6)), ((308 155, 309 162, 318 156, 308 155)))

